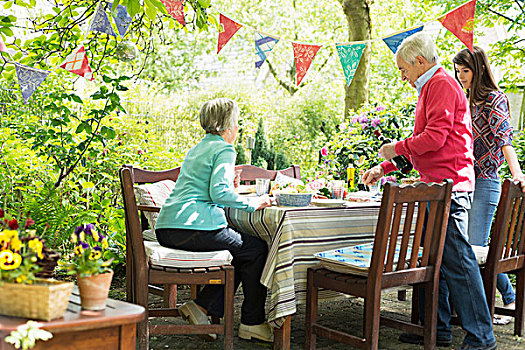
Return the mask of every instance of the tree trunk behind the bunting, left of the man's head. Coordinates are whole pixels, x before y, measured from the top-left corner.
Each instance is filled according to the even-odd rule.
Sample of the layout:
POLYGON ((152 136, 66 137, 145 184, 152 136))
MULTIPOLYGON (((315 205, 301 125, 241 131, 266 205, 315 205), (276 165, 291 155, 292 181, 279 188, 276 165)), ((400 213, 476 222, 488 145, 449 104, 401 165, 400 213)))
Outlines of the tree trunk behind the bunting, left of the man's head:
MULTIPOLYGON (((348 41, 369 40, 372 35, 370 20, 371 0, 339 0, 348 20, 348 41)), ((345 84, 345 119, 350 110, 356 110, 368 101, 370 79, 370 45, 363 51, 359 67, 350 86, 345 84)))

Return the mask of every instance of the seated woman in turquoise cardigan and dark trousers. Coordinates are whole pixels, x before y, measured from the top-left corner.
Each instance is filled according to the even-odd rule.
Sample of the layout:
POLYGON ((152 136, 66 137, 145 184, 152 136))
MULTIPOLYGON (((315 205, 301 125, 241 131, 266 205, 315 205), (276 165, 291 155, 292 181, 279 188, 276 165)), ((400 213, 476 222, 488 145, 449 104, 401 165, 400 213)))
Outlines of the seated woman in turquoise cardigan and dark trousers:
MULTIPOLYGON (((206 136, 186 155, 175 189, 162 206, 155 233, 162 246, 189 251, 229 250, 235 267, 235 288, 242 282, 239 337, 273 341, 265 323, 266 287, 260 282, 268 253, 266 243, 228 227, 223 207, 253 212, 271 205, 268 196, 245 198, 234 192, 235 149, 239 109, 227 98, 206 102, 200 123, 206 136)), ((224 314, 224 287, 207 285, 198 297, 180 307, 193 324, 209 324, 224 314)), ((215 339, 215 334, 209 334, 215 339)))

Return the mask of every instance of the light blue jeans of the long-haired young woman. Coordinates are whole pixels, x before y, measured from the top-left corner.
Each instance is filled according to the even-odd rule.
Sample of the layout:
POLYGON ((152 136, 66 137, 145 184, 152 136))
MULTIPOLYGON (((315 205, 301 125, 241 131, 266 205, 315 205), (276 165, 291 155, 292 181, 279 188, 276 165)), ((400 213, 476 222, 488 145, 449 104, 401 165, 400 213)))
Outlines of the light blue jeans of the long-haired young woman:
MULTIPOLYGON (((468 237, 470 244, 483 247, 488 245, 490 228, 500 195, 501 181, 499 179, 476 179, 472 208, 469 210, 468 237)), ((516 293, 512 289, 507 274, 498 274, 496 286, 503 298, 503 304, 507 305, 516 300, 516 293)))

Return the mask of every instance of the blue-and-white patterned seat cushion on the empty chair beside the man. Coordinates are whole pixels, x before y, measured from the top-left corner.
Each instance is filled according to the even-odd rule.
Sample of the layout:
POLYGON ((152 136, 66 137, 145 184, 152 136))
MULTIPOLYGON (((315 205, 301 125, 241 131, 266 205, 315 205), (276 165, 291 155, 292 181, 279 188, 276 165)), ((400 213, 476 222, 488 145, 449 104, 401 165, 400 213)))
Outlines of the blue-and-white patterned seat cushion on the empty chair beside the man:
MULTIPOLYGON (((396 253, 394 255, 394 266, 397 264, 399 256, 400 245, 396 246, 396 253)), ((365 243, 355 246, 328 250, 314 254, 314 256, 321 260, 320 265, 328 270, 340 273, 349 273, 353 275, 367 276, 370 269, 370 262, 372 259, 372 252, 374 250, 374 243, 365 243)), ((407 248, 407 257, 412 253, 412 246, 407 248)), ((421 257, 423 248, 420 248, 418 257, 421 257)), ((407 259, 408 262, 408 259, 407 259)))

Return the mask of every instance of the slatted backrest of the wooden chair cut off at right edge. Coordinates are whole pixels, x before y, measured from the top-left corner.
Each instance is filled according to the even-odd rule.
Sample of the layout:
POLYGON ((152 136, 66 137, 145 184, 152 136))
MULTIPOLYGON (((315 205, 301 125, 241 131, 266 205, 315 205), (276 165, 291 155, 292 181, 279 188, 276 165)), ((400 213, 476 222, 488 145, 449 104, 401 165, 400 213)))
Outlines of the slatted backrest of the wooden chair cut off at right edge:
POLYGON ((503 182, 486 268, 499 272, 525 266, 525 193, 519 183, 503 182))

